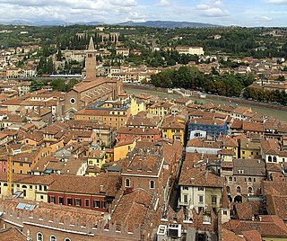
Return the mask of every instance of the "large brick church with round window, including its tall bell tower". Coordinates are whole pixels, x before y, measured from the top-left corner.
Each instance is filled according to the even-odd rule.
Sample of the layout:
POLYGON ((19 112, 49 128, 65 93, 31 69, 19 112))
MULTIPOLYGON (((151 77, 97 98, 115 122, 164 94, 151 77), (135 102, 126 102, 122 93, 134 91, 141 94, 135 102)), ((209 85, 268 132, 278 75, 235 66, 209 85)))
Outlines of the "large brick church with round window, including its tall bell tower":
POLYGON ((97 77, 96 49, 91 37, 85 61, 86 76, 65 94, 65 119, 73 119, 74 113, 100 100, 117 100, 123 94, 123 82, 116 78, 97 77))

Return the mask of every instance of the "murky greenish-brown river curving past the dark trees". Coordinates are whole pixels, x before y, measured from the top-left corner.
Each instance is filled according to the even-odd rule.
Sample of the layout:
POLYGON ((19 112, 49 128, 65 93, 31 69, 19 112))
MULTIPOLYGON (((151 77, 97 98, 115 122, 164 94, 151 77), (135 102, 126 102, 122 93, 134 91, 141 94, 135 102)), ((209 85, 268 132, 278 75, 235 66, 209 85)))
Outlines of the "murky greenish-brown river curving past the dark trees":
MULTIPOLYGON (((169 94, 166 92, 159 92, 159 91, 153 91, 153 90, 147 90, 147 89, 137 89, 137 88, 133 88, 133 87, 127 87, 125 86, 125 90, 127 94, 151 94, 151 95, 155 95, 155 96, 159 96, 161 98, 169 98, 169 99, 177 99, 180 98, 181 95, 179 94, 169 94)), ((192 99, 193 101, 196 101, 197 103, 215 103, 215 104, 230 104, 230 102, 226 102, 226 101, 219 101, 219 100, 212 100, 212 99, 200 99, 200 98, 196 98, 194 96, 192 97, 187 97, 192 99)), ((283 111, 283 110, 274 110, 270 107, 261 107, 261 106, 257 106, 256 103, 252 103, 252 104, 244 104, 244 103, 240 103, 239 105, 242 106, 248 106, 248 107, 252 107, 252 109, 255 112, 258 112, 260 114, 263 115, 267 115, 267 116, 271 116, 274 118, 278 118, 279 120, 282 121, 287 121, 287 112, 283 111)))

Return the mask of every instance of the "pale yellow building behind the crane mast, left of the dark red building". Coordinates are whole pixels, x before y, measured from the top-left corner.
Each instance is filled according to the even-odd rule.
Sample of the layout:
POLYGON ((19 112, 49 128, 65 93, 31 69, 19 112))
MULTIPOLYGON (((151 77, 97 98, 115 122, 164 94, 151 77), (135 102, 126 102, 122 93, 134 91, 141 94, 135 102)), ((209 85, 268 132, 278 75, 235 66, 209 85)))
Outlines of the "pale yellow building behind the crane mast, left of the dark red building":
MULTIPOLYGON (((13 194, 30 201, 48 202, 48 186, 54 183, 50 175, 13 174, 13 194)), ((0 174, 0 197, 7 195, 7 174, 0 174)))

